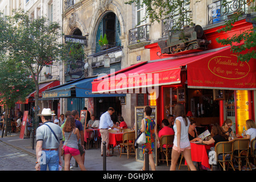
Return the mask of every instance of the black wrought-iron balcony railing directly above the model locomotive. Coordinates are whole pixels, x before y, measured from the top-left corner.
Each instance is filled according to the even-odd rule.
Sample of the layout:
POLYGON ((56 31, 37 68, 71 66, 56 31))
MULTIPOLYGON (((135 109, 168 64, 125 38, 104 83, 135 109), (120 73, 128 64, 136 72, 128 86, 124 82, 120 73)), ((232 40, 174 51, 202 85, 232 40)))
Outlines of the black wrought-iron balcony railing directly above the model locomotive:
MULTIPOLYGON (((184 13, 184 21, 180 22, 181 26, 187 26, 189 25, 189 14, 191 12, 187 11, 184 13)), ((162 37, 168 35, 168 31, 172 30, 173 27, 177 26, 177 23, 179 21, 180 15, 174 15, 173 18, 166 18, 162 20, 162 37)))

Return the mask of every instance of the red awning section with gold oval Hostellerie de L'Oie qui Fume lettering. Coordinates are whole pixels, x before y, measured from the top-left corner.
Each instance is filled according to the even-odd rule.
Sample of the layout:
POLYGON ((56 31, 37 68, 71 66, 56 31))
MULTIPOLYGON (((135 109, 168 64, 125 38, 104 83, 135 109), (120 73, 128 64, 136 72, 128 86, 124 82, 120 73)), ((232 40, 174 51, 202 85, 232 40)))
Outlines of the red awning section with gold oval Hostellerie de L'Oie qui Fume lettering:
POLYGON ((188 88, 256 90, 256 59, 238 61, 230 47, 202 55, 187 69, 188 88))

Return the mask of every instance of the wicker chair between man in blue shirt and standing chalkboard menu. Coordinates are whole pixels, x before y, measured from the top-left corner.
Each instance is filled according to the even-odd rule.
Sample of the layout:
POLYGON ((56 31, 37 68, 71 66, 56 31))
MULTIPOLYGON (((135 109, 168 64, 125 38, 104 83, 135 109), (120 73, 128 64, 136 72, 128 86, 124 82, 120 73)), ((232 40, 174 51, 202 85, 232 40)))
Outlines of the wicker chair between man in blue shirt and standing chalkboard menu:
POLYGON ((120 158, 122 154, 127 154, 127 159, 129 159, 130 154, 135 154, 135 147, 134 147, 134 140, 135 140, 135 131, 129 131, 123 133, 123 141, 120 143, 120 158), (122 148, 125 148, 125 151, 122 152, 122 148), (133 148, 134 153, 131 153, 131 148, 133 148))

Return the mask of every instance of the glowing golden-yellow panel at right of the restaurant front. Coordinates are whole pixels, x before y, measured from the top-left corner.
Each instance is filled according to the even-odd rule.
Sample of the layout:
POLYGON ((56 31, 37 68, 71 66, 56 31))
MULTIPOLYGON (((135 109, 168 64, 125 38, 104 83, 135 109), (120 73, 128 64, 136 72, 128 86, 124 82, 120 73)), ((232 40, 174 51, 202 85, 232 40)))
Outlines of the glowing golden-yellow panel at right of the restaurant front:
POLYGON ((242 134, 243 126, 249 119, 249 97, 247 90, 236 90, 237 133, 242 134))

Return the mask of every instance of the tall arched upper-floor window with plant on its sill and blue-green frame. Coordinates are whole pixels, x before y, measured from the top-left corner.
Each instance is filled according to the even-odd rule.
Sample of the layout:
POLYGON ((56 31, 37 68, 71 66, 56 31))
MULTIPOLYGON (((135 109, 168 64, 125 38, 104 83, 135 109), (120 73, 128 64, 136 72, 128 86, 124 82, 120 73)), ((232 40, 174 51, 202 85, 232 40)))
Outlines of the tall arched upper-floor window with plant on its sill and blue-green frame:
POLYGON ((101 51, 101 46, 98 44, 98 40, 100 40, 101 35, 104 37, 105 34, 109 42, 108 48, 121 46, 121 40, 119 38, 121 36, 120 23, 113 12, 107 13, 98 25, 96 35, 96 52, 101 51))

